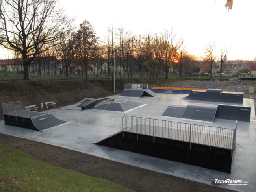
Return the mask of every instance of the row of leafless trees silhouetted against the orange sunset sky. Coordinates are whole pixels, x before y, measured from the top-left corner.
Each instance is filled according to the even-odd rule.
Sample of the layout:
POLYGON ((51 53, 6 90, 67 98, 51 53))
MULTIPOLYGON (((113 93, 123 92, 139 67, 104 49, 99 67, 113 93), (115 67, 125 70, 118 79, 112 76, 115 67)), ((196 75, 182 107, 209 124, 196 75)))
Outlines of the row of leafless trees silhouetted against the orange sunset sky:
MULTIPOLYGON (((0 45, 13 51, 15 57, 23 59, 24 80, 29 79, 29 66, 36 57, 54 56, 61 60, 65 75, 76 70, 88 80, 88 71, 93 65, 96 75, 107 64, 107 79, 117 74, 120 79, 132 78, 137 70, 142 75, 148 72, 150 81, 156 81, 160 73, 168 78, 170 72, 176 76, 191 73, 197 59, 186 52, 183 39, 171 31, 159 34, 134 36, 124 28, 108 28, 104 40, 88 20, 78 29, 74 20, 58 9, 55 0, 2 0, 0 4, 0 45), (17 56, 18 55, 18 56, 17 56), (114 63, 115 59, 115 63, 114 63)), ((228 52, 221 52, 221 62, 228 52)), ((212 74, 214 45, 206 47, 206 57, 212 74)))

